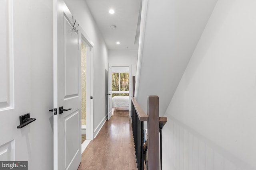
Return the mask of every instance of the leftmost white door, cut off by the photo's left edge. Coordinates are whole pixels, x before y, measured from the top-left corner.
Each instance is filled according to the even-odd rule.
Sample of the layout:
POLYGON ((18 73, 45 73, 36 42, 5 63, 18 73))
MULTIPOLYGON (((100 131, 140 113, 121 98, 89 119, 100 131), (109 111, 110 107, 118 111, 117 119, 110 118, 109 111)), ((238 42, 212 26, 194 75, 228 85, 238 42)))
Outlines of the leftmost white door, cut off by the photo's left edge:
POLYGON ((29 143, 37 121, 17 129, 19 116, 31 111, 30 38, 23 25, 27 13, 20 14, 24 9, 25 3, 0 1, 0 161, 31 164, 29 143), (19 29, 14 30, 13 25, 19 29))

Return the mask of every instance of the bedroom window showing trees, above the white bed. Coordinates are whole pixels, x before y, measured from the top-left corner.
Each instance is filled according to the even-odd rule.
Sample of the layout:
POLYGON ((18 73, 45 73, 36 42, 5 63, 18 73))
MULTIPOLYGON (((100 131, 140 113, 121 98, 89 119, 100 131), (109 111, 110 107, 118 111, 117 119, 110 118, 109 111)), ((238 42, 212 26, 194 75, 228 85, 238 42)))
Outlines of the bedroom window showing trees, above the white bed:
POLYGON ((112 97, 129 96, 129 73, 112 72, 112 97))

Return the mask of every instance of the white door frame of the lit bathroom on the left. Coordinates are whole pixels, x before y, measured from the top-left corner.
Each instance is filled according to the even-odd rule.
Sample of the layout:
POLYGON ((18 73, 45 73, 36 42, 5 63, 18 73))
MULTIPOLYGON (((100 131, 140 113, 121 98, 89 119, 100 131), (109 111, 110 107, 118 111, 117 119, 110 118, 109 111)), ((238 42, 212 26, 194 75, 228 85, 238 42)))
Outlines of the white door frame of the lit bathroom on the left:
MULTIPOLYGON (((94 43, 90 40, 89 36, 80 27, 81 43, 84 41, 89 47, 88 56, 86 57, 87 70, 86 70, 86 139, 93 140, 93 97, 94 94, 94 70, 93 70, 93 47, 94 43), (90 93, 87 93, 90 92, 90 93), (89 126, 88 126, 89 125, 89 126), (89 135, 88 135, 89 134, 89 135)), ((81 45, 80 43, 80 45, 81 45)), ((82 119, 82 118, 81 118, 82 119)), ((83 151, 83 150, 82 150, 83 151)))

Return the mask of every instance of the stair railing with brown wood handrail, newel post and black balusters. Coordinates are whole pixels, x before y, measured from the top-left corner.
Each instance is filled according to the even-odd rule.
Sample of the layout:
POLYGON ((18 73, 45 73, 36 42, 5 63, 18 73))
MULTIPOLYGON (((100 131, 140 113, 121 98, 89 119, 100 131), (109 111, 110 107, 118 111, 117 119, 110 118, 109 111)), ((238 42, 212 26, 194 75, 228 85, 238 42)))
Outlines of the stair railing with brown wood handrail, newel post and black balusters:
MULTIPOLYGON (((144 170, 145 163, 148 170, 159 170, 159 132, 166 123, 166 117, 159 117, 158 96, 148 96, 148 114, 140 107, 134 97, 132 97, 132 133, 134 137, 135 154, 137 168, 144 170), (148 121, 148 141, 146 146, 147 154, 144 154, 143 131, 144 121, 148 121), (147 162, 144 162, 146 156, 147 162)), ((162 133, 160 133, 162 135, 162 133)), ((162 150, 162 149, 160 149, 162 150)), ((162 156, 161 156, 162 157, 162 156)), ((161 163, 162 164, 162 163, 161 163)))

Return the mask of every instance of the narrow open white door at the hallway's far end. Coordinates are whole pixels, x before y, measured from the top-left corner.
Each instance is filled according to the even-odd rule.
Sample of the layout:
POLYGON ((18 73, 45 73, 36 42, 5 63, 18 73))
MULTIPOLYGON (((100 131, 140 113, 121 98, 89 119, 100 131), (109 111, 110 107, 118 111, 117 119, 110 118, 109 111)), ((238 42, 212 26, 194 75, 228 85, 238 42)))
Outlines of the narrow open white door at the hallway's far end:
POLYGON ((112 67, 108 64, 108 120, 112 116, 112 67))

